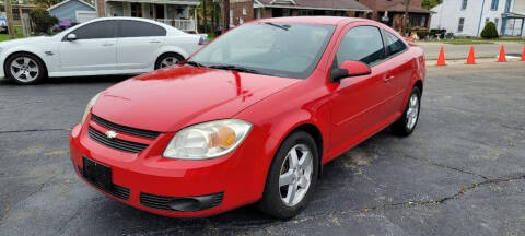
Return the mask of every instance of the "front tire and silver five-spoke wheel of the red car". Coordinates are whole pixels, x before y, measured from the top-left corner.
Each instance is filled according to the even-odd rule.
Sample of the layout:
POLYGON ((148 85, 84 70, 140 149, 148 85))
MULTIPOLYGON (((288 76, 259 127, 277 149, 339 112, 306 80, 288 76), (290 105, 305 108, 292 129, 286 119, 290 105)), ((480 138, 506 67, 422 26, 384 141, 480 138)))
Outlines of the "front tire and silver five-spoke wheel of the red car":
POLYGON ((314 139, 304 131, 293 132, 273 157, 258 209, 277 219, 301 213, 315 188, 318 167, 314 139))

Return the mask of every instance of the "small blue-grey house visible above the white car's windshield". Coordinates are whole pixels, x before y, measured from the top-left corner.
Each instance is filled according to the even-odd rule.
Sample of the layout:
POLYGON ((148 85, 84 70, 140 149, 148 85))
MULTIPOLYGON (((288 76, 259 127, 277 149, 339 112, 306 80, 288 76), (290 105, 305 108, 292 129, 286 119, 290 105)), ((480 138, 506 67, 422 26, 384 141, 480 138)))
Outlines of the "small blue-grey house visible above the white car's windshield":
POLYGON ((96 17, 95 7, 82 0, 66 0, 51 5, 47 11, 59 21, 84 23, 96 17))

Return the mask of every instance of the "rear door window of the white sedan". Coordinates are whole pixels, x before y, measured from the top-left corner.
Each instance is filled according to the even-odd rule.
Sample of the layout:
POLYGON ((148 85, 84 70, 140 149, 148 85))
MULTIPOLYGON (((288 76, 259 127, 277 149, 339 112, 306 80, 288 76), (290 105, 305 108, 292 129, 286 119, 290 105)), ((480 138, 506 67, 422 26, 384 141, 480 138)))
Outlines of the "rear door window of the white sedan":
POLYGON ((166 30, 148 22, 120 21, 119 37, 152 37, 166 36, 166 30))

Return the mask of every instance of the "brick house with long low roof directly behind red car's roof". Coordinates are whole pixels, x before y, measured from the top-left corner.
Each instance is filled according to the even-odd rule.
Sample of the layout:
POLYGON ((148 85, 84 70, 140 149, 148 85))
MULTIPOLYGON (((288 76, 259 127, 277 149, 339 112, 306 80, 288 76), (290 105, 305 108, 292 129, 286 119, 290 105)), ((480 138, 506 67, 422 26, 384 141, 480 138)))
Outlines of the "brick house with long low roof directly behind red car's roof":
POLYGON ((355 0, 230 0, 230 25, 264 17, 359 16, 371 11, 355 0))

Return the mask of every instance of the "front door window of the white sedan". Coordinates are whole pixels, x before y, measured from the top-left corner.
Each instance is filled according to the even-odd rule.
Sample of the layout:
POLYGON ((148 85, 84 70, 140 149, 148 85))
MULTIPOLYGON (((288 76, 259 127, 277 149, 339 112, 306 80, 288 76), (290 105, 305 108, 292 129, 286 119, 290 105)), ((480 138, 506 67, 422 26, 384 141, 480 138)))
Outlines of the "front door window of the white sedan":
POLYGON ((114 38, 116 37, 116 21, 97 21, 81 26, 71 34, 79 39, 114 38))

